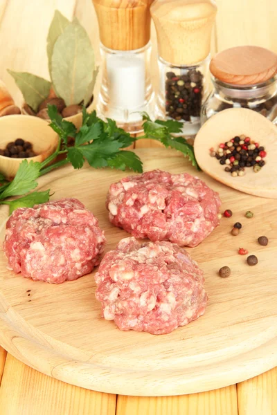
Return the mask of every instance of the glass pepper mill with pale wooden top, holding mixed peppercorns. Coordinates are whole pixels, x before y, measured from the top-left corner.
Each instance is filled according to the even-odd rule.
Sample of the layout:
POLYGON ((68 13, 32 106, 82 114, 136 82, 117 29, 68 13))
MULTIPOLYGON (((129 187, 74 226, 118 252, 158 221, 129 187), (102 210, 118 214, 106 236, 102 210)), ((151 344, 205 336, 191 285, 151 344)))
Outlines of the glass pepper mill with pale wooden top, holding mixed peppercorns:
POLYGON ((150 12, 158 37, 158 116, 184 122, 183 135, 195 136, 209 89, 215 1, 156 0, 150 12))

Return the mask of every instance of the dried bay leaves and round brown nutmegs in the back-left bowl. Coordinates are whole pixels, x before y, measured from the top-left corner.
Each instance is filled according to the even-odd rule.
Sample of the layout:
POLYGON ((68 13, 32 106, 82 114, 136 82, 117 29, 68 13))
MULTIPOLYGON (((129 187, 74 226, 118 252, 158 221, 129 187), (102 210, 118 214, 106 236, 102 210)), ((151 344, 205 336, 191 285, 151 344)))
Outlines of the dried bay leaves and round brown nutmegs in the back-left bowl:
POLYGON ((32 73, 8 70, 24 96, 22 112, 50 121, 47 105, 55 105, 58 113, 80 128, 82 106, 93 109, 98 68, 89 36, 77 19, 71 22, 55 11, 47 55, 51 82, 32 73))

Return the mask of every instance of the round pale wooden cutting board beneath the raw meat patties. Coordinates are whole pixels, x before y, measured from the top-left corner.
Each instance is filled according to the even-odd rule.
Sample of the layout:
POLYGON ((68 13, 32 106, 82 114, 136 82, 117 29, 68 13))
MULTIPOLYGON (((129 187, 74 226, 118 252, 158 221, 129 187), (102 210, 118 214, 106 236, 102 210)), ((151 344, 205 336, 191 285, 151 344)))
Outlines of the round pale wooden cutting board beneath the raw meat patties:
MULTIPOLYGON (((195 169, 176 151, 136 151, 144 169, 172 173, 195 169)), ((39 179, 52 199, 74 196, 100 221, 109 250, 127 233, 107 219, 109 184, 125 173, 65 167, 39 179)), ((55 286, 24 279, 6 270, 0 252, 0 342, 13 356, 65 382, 96 391, 136 396, 191 394, 256 376, 277 365, 276 201, 243 194, 199 174, 220 192, 222 211, 233 210, 197 248, 188 248, 206 277, 209 295, 203 317, 168 335, 119 331, 100 315, 93 275, 55 286), (244 217, 251 210, 253 219, 244 217), (230 234, 240 221, 238 237, 230 234), (268 246, 258 245, 266 235, 268 246), (238 248, 258 257, 250 267, 238 248), (217 272, 230 266, 231 277, 217 272)), ((0 209, 2 222, 8 216, 0 209)))

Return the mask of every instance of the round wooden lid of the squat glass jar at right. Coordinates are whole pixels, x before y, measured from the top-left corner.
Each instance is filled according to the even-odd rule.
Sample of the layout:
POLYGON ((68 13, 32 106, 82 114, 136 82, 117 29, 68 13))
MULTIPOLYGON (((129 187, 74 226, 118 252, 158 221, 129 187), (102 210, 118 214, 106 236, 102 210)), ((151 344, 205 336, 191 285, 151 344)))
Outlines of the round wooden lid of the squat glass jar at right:
POLYGON ((210 71, 228 84, 259 84, 277 73, 277 55, 258 46, 229 48, 211 59, 210 71))

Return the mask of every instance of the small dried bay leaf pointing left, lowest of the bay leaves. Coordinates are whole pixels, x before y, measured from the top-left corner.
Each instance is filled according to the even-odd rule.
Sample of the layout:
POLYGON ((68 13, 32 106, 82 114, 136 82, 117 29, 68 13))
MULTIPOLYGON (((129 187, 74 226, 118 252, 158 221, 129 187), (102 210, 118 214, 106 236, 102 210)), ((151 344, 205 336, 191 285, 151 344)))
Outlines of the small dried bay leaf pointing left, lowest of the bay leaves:
POLYGON ((37 112, 39 104, 48 97, 51 82, 37 75, 33 75, 33 73, 15 72, 10 71, 10 69, 7 69, 7 71, 15 80, 15 83, 24 96, 25 102, 37 112))

